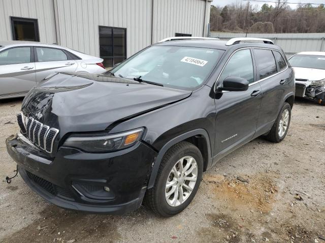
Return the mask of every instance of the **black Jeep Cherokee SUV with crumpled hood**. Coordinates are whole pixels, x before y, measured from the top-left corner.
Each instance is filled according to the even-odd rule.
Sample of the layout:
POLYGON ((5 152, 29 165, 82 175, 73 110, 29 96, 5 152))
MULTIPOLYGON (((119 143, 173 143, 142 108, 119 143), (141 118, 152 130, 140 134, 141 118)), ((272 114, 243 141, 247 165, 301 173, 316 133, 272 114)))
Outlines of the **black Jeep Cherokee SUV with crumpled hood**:
POLYGON ((101 75, 47 77, 6 141, 21 177, 62 208, 181 212, 220 158, 288 131, 293 69, 270 40, 247 41, 168 41, 101 75))

